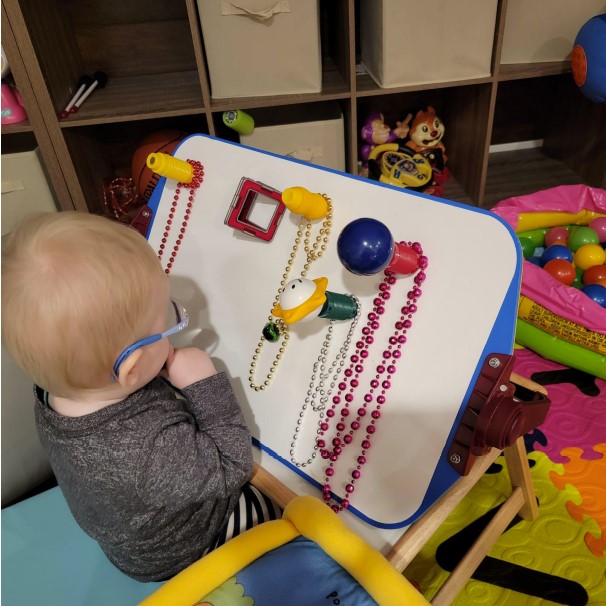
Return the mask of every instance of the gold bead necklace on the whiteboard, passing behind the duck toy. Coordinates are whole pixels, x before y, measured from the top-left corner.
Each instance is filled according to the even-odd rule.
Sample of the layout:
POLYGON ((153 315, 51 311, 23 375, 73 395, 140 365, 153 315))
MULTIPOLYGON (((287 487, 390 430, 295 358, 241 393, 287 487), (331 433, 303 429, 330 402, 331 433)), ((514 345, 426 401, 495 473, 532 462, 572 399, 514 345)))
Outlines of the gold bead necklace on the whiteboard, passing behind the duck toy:
MULTIPOLYGON (((280 301, 280 295, 282 294, 284 287, 288 283, 290 271, 292 269, 292 266, 295 263, 297 253, 299 251, 299 246, 301 244, 301 239, 303 238, 303 248, 304 248, 305 254, 306 254, 306 262, 303 265, 303 269, 301 271, 302 278, 306 277, 307 272, 309 271, 310 265, 324 254, 324 251, 326 250, 326 248, 328 246, 330 230, 332 228, 332 200, 325 194, 322 194, 322 196, 327 202, 328 211, 326 213, 326 216, 324 217, 324 220, 322 221, 322 226, 320 227, 320 232, 316 236, 316 239, 315 239, 313 245, 310 246, 312 224, 311 224, 311 221, 309 221, 305 217, 301 217, 301 221, 299 222, 299 228, 297 230, 297 236, 295 238, 295 243, 292 247, 292 251, 290 252, 290 256, 288 258, 288 263, 286 264, 286 267, 284 268, 284 273, 282 275, 282 281, 280 282, 280 288, 278 289, 278 292, 276 293, 276 296, 274 297, 272 309, 280 301)), ((263 381, 263 383, 256 383, 255 375, 257 372, 257 363, 261 356, 261 352, 263 351, 263 346, 265 345, 265 341, 267 340, 263 336, 263 334, 261 334, 261 339, 259 340, 259 343, 257 344, 257 347, 255 348, 255 353, 253 355, 252 362, 250 363, 250 371, 248 373, 248 382, 249 382, 250 386, 252 387, 252 389, 254 389, 255 391, 265 391, 265 389, 267 389, 269 387, 269 385, 271 384, 271 381, 274 377, 274 374, 275 374, 276 370, 278 369, 278 365, 280 364, 280 361, 282 360, 282 357, 284 356, 284 352, 286 351, 286 346, 288 344, 288 340, 290 339, 290 332, 288 330, 288 324, 286 324, 286 322, 284 322, 284 320, 275 318, 274 316, 272 316, 270 314, 267 321, 273 322, 278 327, 280 334, 282 335, 282 342, 280 343, 278 353, 276 354, 276 356, 271 364, 271 367, 265 377, 265 380, 263 381)))

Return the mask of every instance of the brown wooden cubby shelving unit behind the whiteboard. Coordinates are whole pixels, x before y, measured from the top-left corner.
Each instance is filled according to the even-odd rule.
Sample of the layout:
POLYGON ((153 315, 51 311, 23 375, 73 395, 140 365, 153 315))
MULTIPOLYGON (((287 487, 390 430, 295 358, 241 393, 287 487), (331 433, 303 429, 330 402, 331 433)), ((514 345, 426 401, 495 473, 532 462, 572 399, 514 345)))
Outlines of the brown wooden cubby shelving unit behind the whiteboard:
POLYGON ((226 110, 303 115, 336 102, 347 170, 355 173, 369 111, 393 124, 432 105, 447 129, 447 198, 491 207, 559 182, 606 187, 606 106, 580 94, 568 62, 501 65, 506 14, 507 0, 499 0, 490 76, 383 89, 356 75, 358 1, 320 0, 320 93, 213 99, 195 0, 4 0, 3 47, 30 116, 29 123, 2 127, 4 149, 30 136, 62 208, 101 213, 103 184, 130 176, 138 142, 156 130, 234 140, 221 120, 226 110), (61 120, 79 75, 99 69, 108 85, 61 120), (541 139, 543 147, 526 155, 489 153, 491 144, 527 139, 541 139))

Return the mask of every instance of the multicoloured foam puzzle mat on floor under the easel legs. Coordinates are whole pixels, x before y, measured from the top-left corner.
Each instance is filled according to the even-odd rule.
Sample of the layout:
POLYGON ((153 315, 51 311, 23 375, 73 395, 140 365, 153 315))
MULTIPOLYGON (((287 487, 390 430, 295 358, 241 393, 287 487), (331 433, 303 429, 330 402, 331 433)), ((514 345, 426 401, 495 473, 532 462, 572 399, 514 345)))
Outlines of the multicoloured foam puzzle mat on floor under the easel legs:
MULTIPOLYGON (((551 410, 525 436, 539 518, 516 518, 455 606, 606 605, 606 381, 515 352, 514 370, 545 385, 551 410)), ((406 569, 431 599, 510 494, 500 457, 406 569)))

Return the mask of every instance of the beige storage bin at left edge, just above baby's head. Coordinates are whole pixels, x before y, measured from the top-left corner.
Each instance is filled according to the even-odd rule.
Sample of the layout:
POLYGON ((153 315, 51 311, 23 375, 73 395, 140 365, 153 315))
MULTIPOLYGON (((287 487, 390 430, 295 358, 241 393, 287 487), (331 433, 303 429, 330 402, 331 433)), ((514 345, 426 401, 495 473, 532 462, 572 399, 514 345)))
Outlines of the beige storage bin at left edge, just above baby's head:
POLYGON ((2 154, 2 235, 31 213, 56 210, 39 150, 2 154))

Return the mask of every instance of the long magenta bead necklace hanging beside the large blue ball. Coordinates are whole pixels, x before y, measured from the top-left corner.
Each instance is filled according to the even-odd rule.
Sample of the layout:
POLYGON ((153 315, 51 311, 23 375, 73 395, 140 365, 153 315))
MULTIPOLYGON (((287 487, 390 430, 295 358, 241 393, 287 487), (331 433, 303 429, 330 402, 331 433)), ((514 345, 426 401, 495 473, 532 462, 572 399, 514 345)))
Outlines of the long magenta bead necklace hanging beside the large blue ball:
POLYGON ((322 488, 323 499, 328 505, 333 499, 332 488, 330 486, 331 477, 335 474, 335 466, 341 458, 344 450, 354 440, 354 435, 359 430, 365 430, 366 435, 361 442, 362 450, 356 457, 356 468, 351 473, 351 479, 345 485, 346 496, 341 499, 340 504, 331 505, 335 512, 343 511, 350 505, 350 495, 355 490, 355 484, 362 476, 362 468, 367 462, 367 454, 372 443, 371 439, 377 429, 377 423, 381 418, 381 408, 387 400, 387 391, 391 388, 393 375, 396 372, 396 364, 402 356, 402 346, 406 343, 406 333, 412 327, 412 317, 417 312, 417 303, 422 295, 421 284, 425 281, 425 269, 428 266, 427 257, 423 255, 423 249, 418 242, 403 243, 412 247, 419 255, 419 269, 414 276, 415 286, 408 292, 406 304, 401 308, 401 315, 396 321, 395 331, 389 337, 389 345, 383 351, 383 359, 376 367, 375 377, 370 381, 369 388, 363 397, 362 404, 355 411, 353 416, 354 394, 360 387, 360 377, 364 372, 364 361, 369 356, 369 350, 375 342, 375 334, 380 328, 381 316, 385 312, 385 303, 391 296, 391 287, 396 283, 396 276, 391 271, 385 271, 385 278, 379 285, 379 292, 373 300, 373 309, 368 313, 368 323, 362 329, 362 338, 356 343, 356 351, 350 356, 349 367, 343 372, 345 379, 338 384, 338 392, 332 398, 332 405, 326 411, 326 419, 320 423, 319 437, 316 444, 320 450, 323 459, 329 461, 325 470, 324 486, 322 488), (343 404, 343 401, 345 402, 343 404), (371 410, 371 404, 374 407, 371 410), (337 410, 337 408, 339 408, 337 410), (338 415, 340 415, 338 417, 338 415), (367 416, 370 416, 369 423, 363 427, 367 416), (327 445, 327 435, 330 429, 330 423, 334 419, 339 420, 336 423, 336 433, 330 440, 330 446, 327 445))

